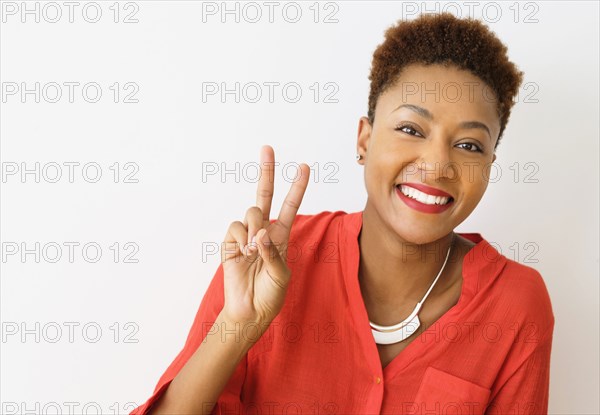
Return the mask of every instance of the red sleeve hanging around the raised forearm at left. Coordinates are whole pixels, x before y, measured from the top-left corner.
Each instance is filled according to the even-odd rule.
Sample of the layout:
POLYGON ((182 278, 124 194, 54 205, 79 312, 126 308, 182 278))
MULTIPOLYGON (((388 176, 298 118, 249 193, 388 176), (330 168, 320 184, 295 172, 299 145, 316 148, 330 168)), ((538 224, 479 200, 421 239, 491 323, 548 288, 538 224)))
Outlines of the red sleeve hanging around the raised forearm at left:
MULTIPOLYGON (((217 316, 223 309, 224 303, 223 264, 219 264, 219 267, 202 298, 183 349, 161 376, 152 396, 143 405, 134 409, 130 415, 146 415, 148 413, 151 406, 158 401, 171 381, 198 349, 200 343, 204 340, 206 334, 217 319, 217 316)), ((241 407, 240 396, 246 377, 246 369, 247 355, 240 361, 233 375, 229 379, 229 382, 225 385, 223 392, 213 408, 213 415, 221 414, 223 411, 235 412, 237 408, 241 407)))

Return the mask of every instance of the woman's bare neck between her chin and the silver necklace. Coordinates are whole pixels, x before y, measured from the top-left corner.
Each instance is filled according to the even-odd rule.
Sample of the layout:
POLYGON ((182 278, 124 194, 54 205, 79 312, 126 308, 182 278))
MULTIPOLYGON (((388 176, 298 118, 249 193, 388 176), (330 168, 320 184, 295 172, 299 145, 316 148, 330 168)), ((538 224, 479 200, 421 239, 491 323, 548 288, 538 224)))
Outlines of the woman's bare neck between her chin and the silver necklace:
MULTIPOLYGON (((450 232, 422 244, 406 241, 367 205, 359 234, 359 282, 367 308, 381 310, 382 314, 398 310, 410 312, 442 269, 453 236, 450 232)), ((454 247, 457 245, 455 241, 454 247)), ((450 252, 444 271, 428 298, 444 285, 444 277, 451 275, 455 251, 450 252)), ((394 319, 387 323, 378 322, 392 323, 395 323, 394 319)))

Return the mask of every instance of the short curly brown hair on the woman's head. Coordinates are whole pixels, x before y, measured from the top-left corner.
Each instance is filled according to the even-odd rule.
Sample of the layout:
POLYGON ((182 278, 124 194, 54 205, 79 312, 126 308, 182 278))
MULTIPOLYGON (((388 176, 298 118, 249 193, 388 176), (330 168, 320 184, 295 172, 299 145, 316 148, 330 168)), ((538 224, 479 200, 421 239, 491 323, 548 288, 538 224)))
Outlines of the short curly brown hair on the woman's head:
POLYGON ((369 80, 368 118, 375 121, 379 96, 393 86, 409 64, 454 64, 470 71, 492 89, 498 100, 500 133, 498 147, 508 123, 513 99, 523 81, 523 72, 507 56, 506 46, 482 22, 459 19, 451 13, 422 14, 400 20, 385 31, 385 40, 373 53, 369 80))

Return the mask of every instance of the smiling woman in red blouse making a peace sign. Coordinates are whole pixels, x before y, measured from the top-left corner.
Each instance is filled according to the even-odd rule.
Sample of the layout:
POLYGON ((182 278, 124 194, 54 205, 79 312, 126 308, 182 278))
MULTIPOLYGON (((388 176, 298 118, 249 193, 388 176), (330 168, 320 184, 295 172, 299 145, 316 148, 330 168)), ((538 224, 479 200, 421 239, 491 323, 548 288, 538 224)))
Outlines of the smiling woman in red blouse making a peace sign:
POLYGON ((476 20, 399 22, 358 126, 364 211, 269 219, 274 154, 183 350, 138 414, 546 413, 554 316, 533 268, 453 229, 488 185, 523 74, 476 20))

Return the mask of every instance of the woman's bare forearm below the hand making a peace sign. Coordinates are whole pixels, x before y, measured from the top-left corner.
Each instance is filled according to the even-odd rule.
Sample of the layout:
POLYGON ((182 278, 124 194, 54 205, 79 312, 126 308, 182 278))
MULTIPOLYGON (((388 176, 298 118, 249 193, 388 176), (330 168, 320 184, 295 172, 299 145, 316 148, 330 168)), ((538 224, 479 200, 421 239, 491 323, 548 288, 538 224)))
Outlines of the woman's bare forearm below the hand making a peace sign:
POLYGON ((149 413, 210 414, 237 365, 260 337, 245 337, 244 333, 256 331, 243 328, 219 314, 204 341, 149 413))

